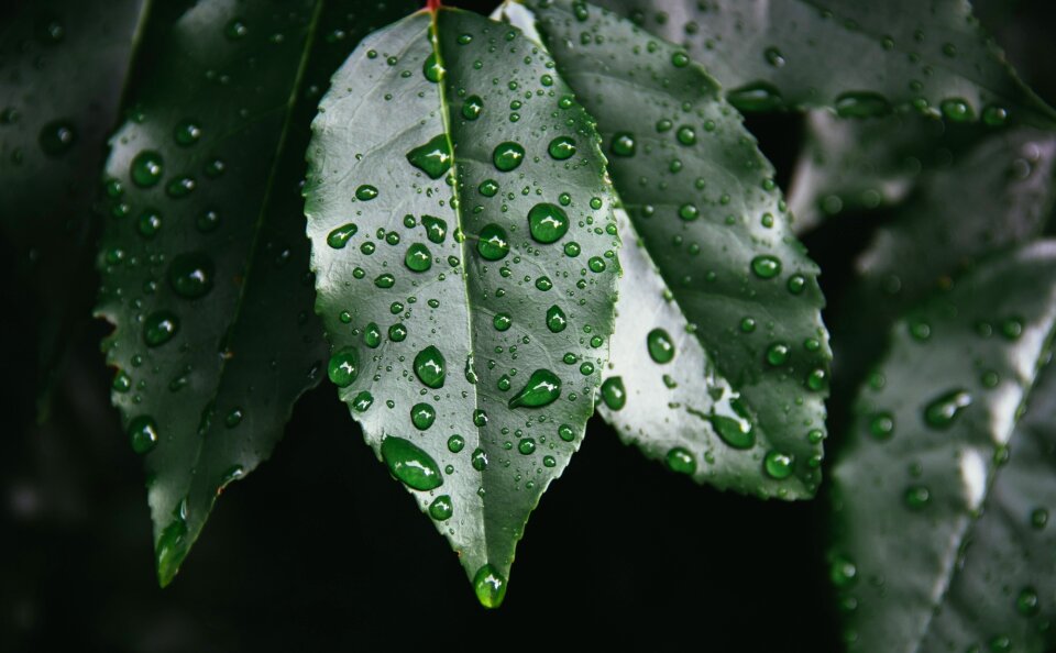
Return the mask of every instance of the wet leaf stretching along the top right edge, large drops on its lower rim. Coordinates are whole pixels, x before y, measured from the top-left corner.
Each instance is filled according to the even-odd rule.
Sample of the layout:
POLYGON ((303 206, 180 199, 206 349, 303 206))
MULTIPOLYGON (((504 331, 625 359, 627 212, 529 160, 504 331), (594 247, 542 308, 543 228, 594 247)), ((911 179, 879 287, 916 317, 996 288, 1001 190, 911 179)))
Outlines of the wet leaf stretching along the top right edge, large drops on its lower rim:
POLYGON ((1000 124, 1052 126, 964 0, 600 0, 683 44, 743 111, 903 106, 1000 124))

